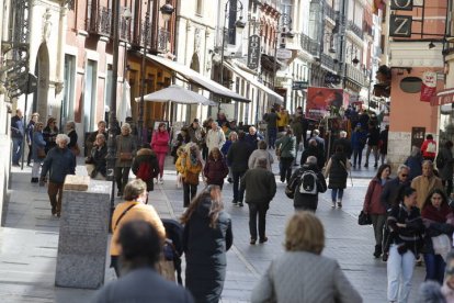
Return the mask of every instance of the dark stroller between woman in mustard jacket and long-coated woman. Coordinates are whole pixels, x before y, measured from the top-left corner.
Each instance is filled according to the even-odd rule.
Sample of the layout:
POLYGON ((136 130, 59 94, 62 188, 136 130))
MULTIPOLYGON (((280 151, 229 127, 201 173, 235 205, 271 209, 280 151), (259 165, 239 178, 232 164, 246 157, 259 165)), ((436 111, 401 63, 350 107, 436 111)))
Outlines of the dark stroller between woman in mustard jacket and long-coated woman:
POLYGON ((177 281, 183 284, 181 279, 181 256, 183 255, 183 225, 172 218, 162 218, 166 228, 166 247, 164 255, 167 260, 173 260, 173 267, 177 271, 177 281))

